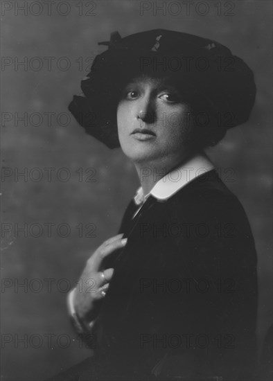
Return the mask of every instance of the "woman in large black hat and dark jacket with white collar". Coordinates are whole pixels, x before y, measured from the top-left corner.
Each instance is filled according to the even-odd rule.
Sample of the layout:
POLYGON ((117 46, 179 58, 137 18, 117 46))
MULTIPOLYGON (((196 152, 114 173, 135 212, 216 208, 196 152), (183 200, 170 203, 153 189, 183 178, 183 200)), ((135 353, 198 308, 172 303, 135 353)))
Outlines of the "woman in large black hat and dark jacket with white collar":
POLYGON ((203 149, 247 121, 252 71, 218 42, 170 30, 100 44, 108 49, 69 110, 87 133, 121 146, 141 188, 118 236, 87 261, 85 288, 69 295, 95 355, 54 380, 250 380, 254 239, 203 149))

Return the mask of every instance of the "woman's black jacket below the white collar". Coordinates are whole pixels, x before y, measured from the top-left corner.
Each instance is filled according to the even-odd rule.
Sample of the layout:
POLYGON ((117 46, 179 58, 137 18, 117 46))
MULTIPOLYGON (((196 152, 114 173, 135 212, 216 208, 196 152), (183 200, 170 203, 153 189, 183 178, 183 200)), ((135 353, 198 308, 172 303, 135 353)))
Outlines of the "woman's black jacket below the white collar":
POLYGON ((243 206, 212 170, 132 219, 136 209, 82 377, 95 366, 98 380, 252 380, 256 251, 243 206))

